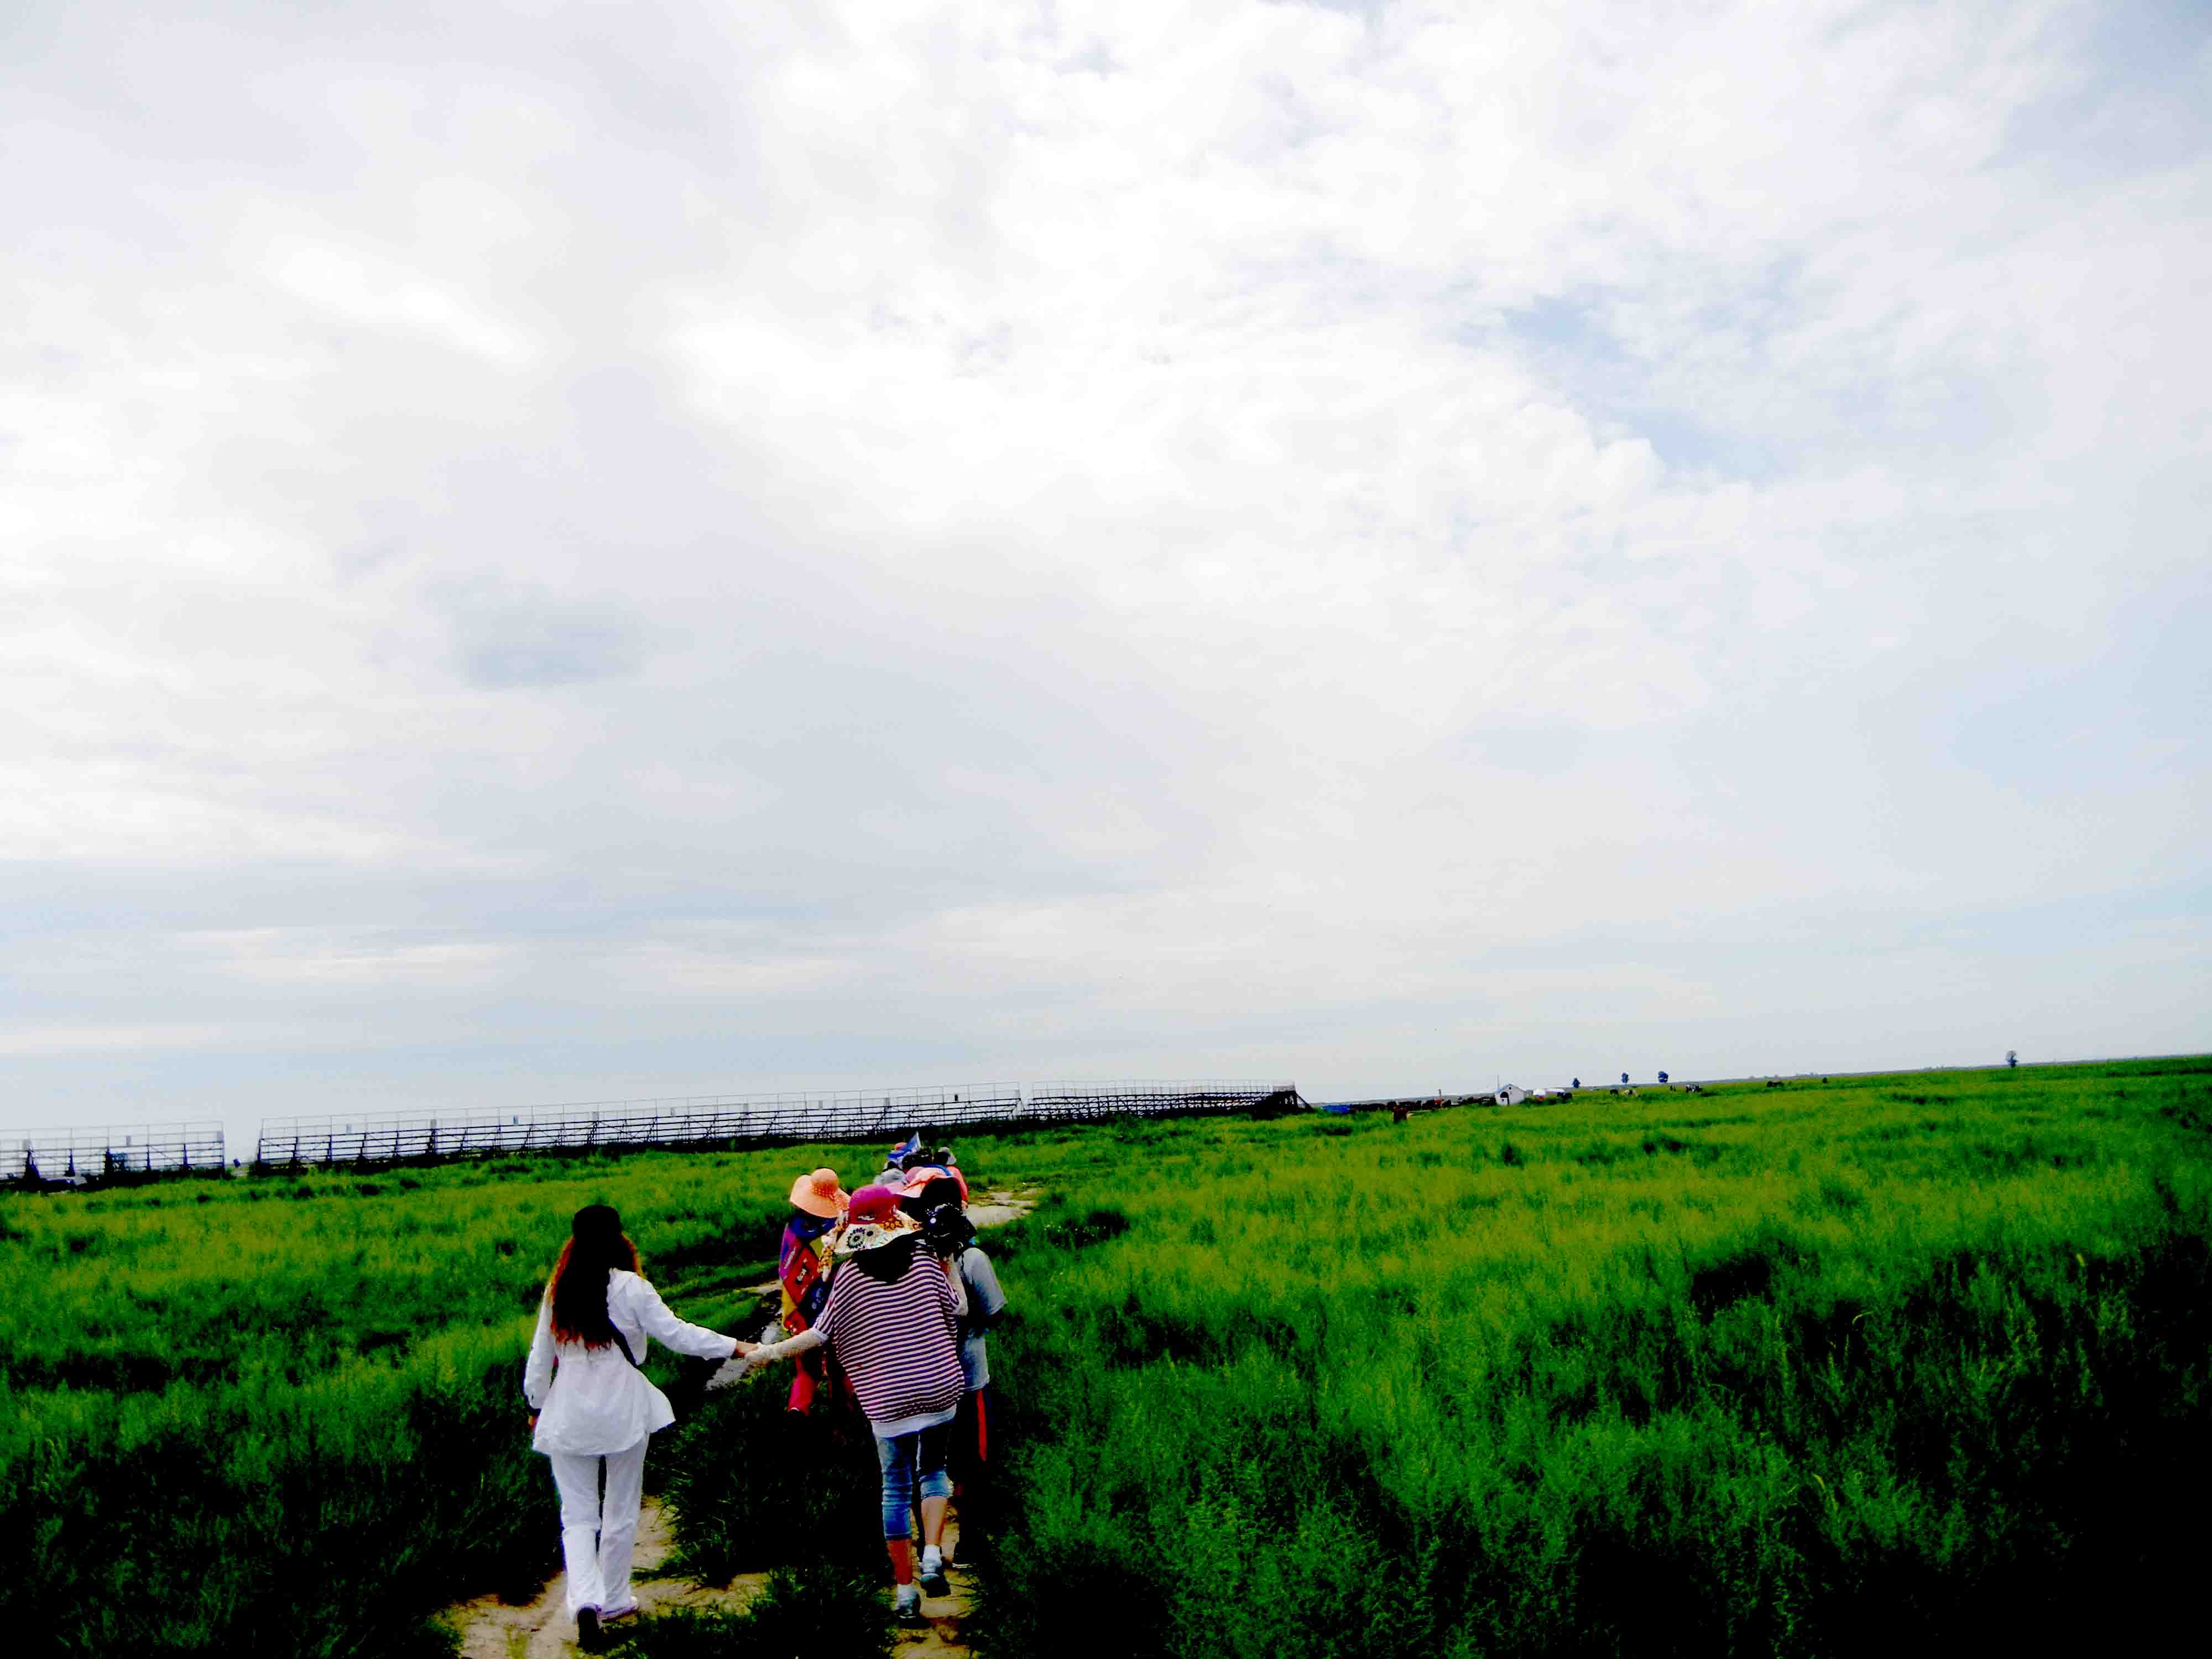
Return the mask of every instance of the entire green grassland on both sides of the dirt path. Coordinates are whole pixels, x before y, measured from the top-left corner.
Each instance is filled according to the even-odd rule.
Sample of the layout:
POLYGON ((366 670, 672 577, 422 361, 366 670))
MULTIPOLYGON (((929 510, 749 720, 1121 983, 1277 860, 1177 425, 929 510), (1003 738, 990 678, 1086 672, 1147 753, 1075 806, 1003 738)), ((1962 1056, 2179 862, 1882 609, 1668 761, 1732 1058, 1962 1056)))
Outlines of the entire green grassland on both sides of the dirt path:
MULTIPOLYGON (((987 1239, 1018 1495, 989 1655, 2033 1650, 2190 1593, 2212 1060, 962 1159, 1053 1194, 987 1239)), ((438 1652, 436 1606, 555 1553, 518 1378, 568 1212, 619 1203, 679 1312, 734 1327, 816 1161, 867 1159, 0 1201, 0 1540, 49 1650, 438 1652)), ((843 1606, 880 1573, 874 1460, 781 1389, 714 1396, 648 1478, 695 1571, 792 1568, 776 1617, 803 1626, 810 1584, 843 1606)))

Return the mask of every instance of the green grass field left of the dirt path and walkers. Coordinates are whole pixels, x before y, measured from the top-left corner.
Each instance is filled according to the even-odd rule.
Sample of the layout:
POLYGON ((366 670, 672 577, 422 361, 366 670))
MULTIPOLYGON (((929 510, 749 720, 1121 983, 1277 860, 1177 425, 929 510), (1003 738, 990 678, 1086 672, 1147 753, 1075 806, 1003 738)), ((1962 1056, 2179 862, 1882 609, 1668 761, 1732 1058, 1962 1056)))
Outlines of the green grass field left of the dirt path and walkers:
POLYGON ((40 1604, 15 1637, 60 1655, 449 1652, 429 1615, 533 1593, 557 1562, 520 1360, 568 1214, 619 1203, 681 1312, 728 1325, 768 1272, 785 1161, 0 1201, 0 1553, 40 1604))

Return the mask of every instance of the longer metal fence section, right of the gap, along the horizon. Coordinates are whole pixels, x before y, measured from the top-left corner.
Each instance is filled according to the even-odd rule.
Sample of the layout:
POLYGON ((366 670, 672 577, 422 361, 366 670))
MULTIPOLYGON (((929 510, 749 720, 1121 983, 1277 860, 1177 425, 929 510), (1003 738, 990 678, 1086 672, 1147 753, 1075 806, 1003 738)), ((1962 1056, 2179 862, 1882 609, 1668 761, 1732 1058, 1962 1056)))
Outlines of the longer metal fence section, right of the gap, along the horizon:
POLYGON ((1287 1082, 975 1084, 960 1088, 856 1088, 807 1095, 611 1099, 476 1113, 374 1113, 265 1117, 254 1161, 400 1164, 493 1152, 730 1146, 732 1141, 900 1139, 982 1124, 1095 1124, 1298 1106, 1287 1082))

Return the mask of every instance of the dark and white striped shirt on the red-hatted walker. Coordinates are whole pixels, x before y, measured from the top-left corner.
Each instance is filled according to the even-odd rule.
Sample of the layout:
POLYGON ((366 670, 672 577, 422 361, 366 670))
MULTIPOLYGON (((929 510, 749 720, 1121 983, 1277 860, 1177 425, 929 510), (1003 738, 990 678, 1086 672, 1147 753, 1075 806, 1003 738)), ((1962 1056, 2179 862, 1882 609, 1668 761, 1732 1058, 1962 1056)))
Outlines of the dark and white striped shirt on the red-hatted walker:
POLYGON ((830 1281, 816 1329, 860 1396, 876 1433, 911 1433, 949 1422, 967 1374, 945 1263, 920 1250, 891 1283, 847 1261, 830 1281))

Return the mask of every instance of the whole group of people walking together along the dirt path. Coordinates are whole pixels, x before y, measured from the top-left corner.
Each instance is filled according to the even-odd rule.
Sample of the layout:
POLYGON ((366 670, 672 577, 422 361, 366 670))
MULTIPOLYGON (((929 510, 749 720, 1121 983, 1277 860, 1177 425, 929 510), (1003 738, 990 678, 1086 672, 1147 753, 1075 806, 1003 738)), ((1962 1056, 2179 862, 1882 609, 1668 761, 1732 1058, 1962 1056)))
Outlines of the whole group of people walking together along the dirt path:
POLYGON ((655 1338, 677 1354, 732 1360, 717 1383, 794 1360, 790 1411, 807 1413, 825 1400, 832 1409, 858 1405, 883 1475, 883 1542, 900 1624, 922 1624, 922 1597, 951 1588, 945 1511, 956 1480, 962 1533, 989 1533, 987 1332, 1004 1314, 1006 1294, 975 1245, 967 1177, 951 1155, 909 1139, 852 1194, 836 1170, 801 1175, 776 1276, 781 1340, 745 1343, 688 1325, 639 1276, 637 1248, 615 1210, 593 1203, 575 1212, 538 1310, 522 1391, 531 1444, 551 1460, 560 1491, 568 1613, 582 1646, 595 1648, 608 1619, 637 1610, 630 1555, 646 1438, 675 1422, 668 1398, 641 1369, 655 1338))

